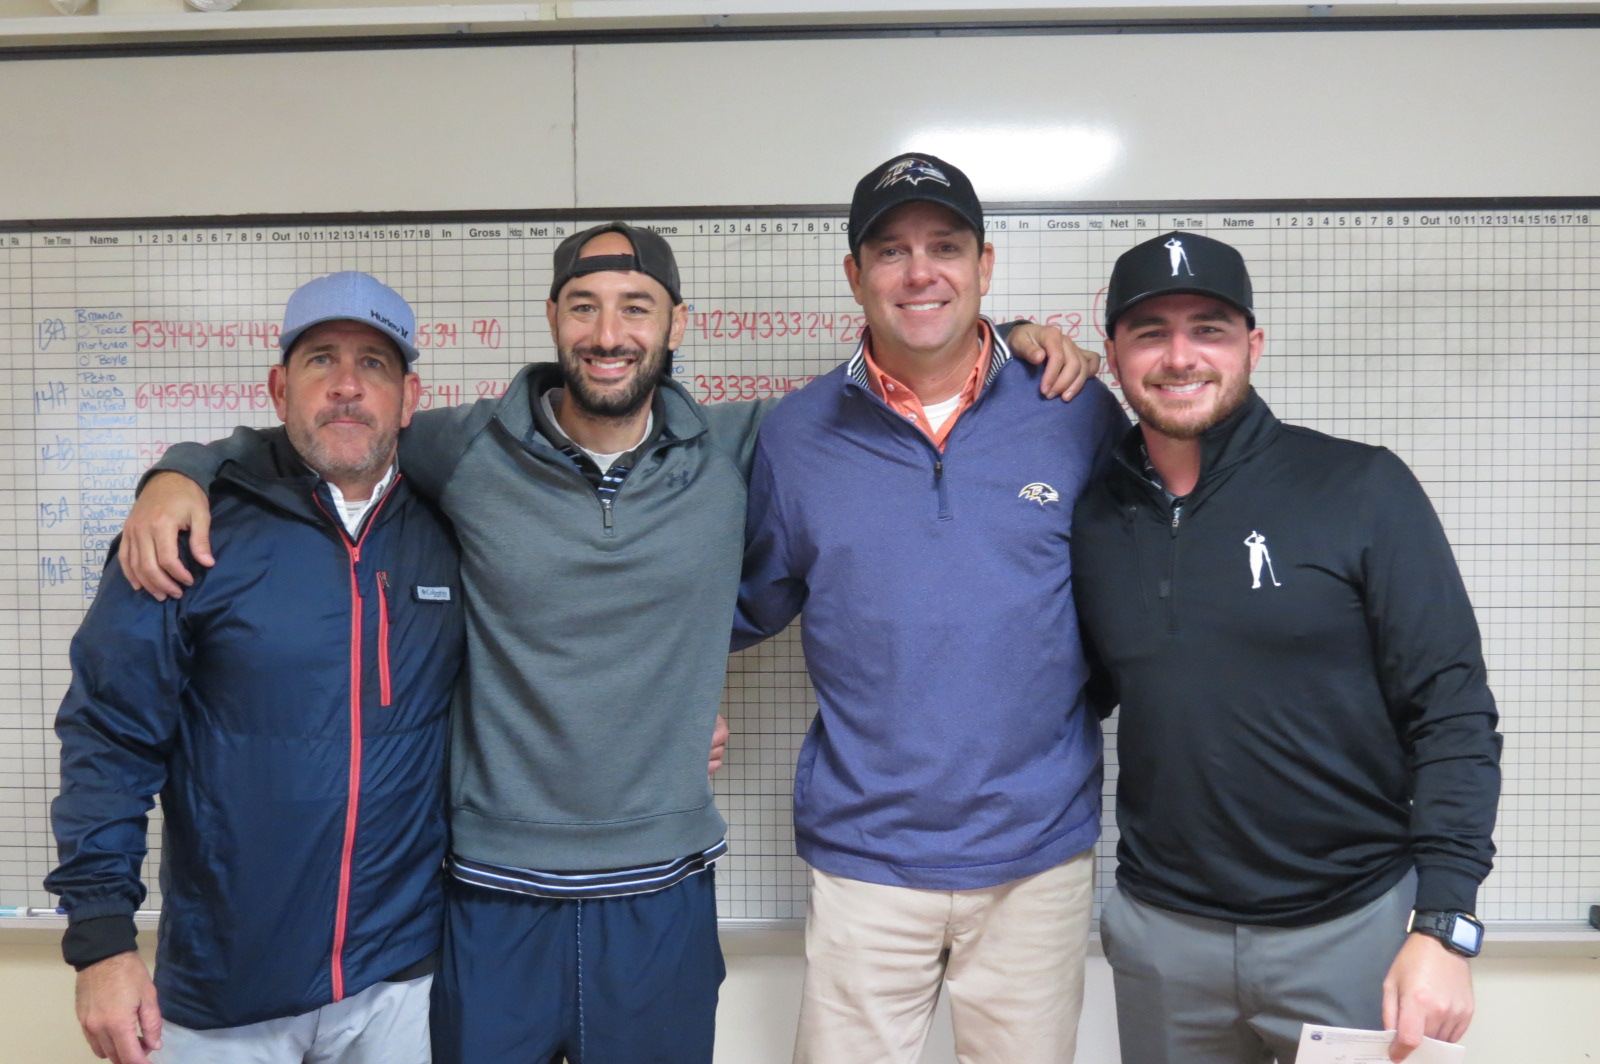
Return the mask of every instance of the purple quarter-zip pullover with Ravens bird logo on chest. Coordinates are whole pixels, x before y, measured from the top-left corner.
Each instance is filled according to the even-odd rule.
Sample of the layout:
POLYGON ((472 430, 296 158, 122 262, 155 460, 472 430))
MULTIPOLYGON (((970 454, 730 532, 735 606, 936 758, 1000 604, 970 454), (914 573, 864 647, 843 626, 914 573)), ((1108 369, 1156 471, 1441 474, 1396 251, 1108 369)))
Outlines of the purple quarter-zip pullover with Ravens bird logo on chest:
POLYGON ((859 350, 762 427, 736 645, 803 614, 795 845, 834 875, 994 886, 1099 837, 1070 522, 1128 421, 1099 381, 1062 405, 990 355, 942 453, 859 350))

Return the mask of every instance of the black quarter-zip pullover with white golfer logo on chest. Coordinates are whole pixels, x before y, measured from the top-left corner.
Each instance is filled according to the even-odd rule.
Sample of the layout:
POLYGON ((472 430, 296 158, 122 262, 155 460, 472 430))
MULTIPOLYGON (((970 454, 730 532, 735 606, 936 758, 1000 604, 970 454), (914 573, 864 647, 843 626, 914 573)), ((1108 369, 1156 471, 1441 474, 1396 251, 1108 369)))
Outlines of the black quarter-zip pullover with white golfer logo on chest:
POLYGON ((1488 875, 1499 736, 1450 542, 1390 451, 1254 392, 1176 504, 1139 429, 1078 502, 1072 573, 1117 733, 1117 882, 1299 926, 1418 869, 1419 909, 1488 875))

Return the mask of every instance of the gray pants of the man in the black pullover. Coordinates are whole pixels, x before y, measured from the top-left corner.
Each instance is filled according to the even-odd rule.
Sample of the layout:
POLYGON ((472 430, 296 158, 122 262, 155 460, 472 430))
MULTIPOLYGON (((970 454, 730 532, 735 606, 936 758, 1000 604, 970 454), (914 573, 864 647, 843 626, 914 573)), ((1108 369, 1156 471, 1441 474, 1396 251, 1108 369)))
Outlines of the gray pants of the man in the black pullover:
POLYGON ((1382 982, 1405 942, 1416 874, 1306 928, 1187 917, 1112 891, 1101 941, 1122 1064, 1294 1064, 1301 1024, 1382 1027, 1382 982))

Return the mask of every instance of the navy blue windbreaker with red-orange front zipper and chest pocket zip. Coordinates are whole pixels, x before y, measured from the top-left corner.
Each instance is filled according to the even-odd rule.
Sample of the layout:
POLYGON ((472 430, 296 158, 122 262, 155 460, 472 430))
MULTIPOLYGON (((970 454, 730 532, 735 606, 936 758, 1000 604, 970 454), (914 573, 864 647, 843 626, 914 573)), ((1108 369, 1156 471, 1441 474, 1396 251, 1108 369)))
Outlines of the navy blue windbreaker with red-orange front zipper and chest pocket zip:
POLYGON ((403 475, 352 541, 274 437, 213 485, 218 565, 182 598, 107 566, 56 717, 45 886, 74 926, 131 920, 158 794, 155 986, 195 1029, 320 1008, 440 941, 456 542, 403 475))

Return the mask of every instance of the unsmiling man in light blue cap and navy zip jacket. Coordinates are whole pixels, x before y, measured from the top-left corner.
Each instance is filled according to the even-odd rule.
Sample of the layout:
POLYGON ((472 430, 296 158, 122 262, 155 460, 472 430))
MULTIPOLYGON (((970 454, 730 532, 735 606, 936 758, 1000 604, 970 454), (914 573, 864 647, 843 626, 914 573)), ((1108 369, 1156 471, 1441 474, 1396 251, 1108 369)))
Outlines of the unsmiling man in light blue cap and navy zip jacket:
POLYGON ((269 373, 285 430, 214 486, 238 565, 155 602, 114 558, 72 640, 46 886, 114 1064, 427 1059, 462 629, 454 538, 395 469, 413 333, 366 274, 301 286, 269 373), (152 982, 133 914, 157 794, 152 982))

